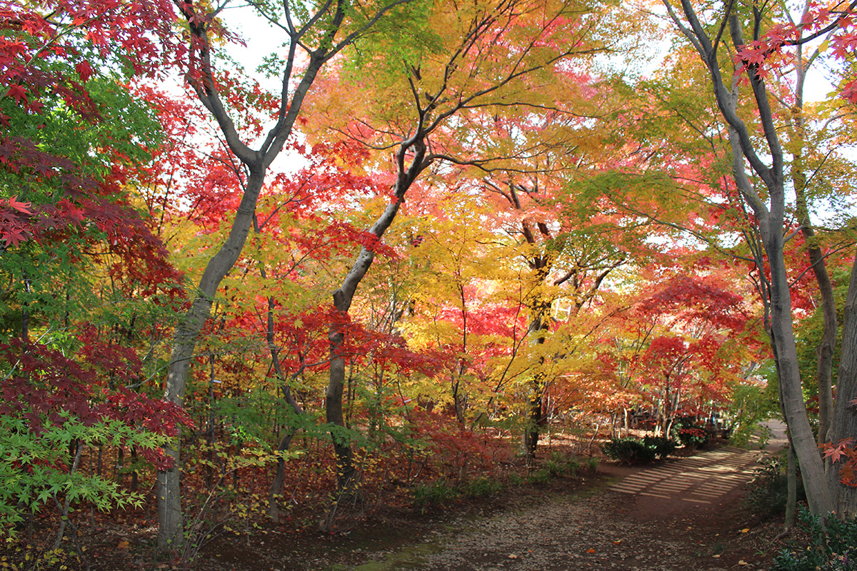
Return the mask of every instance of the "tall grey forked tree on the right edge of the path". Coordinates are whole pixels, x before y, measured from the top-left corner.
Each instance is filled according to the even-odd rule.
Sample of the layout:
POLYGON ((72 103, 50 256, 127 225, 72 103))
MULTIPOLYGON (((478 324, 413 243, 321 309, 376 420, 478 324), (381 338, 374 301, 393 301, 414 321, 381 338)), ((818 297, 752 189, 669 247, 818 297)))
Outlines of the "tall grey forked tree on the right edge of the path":
MULTIPOLYGON (((806 416, 783 254, 786 241, 785 164, 776 116, 770 106, 772 94, 766 80, 770 64, 776 64, 776 54, 784 46, 803 45, 823 35, 829 35, 832 42, 848 42, 848 34, 839 35, 839 32, 844 32, 850 25, 850 19, 844 16, 850 14, 852 6, 845 8, 844 12, 819 8, 817 14, 814 10, 806 10, 796 25, 780 20, 772 26, 767 24, 770 15, 764 9, 754 7, 749 15, 753 33, 750 44, 746 42, 743 32, 742 19, 746 15, 733 3, 728 3, 721 12, 708 15, 714 16, 711 24, 700 21, 696 9, 689 2, 682 2, 680 9, 669 2, 665 2, 665 6, 675 26, 690 41, 708 69, 717 108, 728 126, 734 182, 752 211, 764 248, 764 259, 762 251, 759 251, 756 264, 760 277, 765 280, 763 298, 770 303, 767 326, 782 391, 782 407, 800 461, 810 509, 814 514, 824 515, 835 510, 840 517, 853 517, 854 493, 843 490, 841 486, 830 485, 806 416), (731 62, 726 38, 731 39, 733 53, 737 54, 735 67, 732 68, 729 63, 725 66, 728 69, 726 74, 733 77, 731 80, 724 78, 723 71, 723 60, 728 58, 727 61, 731 62), (752 110, 758 113, 762 139, 758 138, 752 123, 741 116, 742 110, 738 106, 739 77, 743 77, 752 89, 752 110), (755 180, 747 174, 746 165, 752 169, 755 180)), ((846 358, 843 356, 844 360, 846 358)), ((839 384, 838 398, 847 399, 853 392, 853 378, 841 376, 839 384)), ((848 412, 847 405, 837 403, 832 422, 836 429, 830 436, 844 437, 845 434, 853 433, 857 426, 849 423, 854 422, 857 422, 857 416, 848 412), (852 419, 847 420, 847 417, 852 419), (851 432, 841 432, 849 426, 851 432)))

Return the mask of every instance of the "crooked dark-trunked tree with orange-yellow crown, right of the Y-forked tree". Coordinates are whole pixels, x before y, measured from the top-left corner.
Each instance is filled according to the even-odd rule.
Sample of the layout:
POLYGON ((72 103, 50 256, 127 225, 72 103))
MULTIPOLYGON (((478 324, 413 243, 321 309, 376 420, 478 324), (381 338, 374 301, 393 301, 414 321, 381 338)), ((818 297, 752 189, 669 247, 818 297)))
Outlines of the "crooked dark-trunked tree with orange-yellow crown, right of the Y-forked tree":
MULTIPOLYGON (((595 14, 589 6, 566 2, 501 0, 489 7, 457 4, 454 10, 437 4, 428 19, 428 38, 434 45, 422 52, 405 51, 393 70, 388 63, 364 64, 381 74, 359 79, 374 82, 383 97, 369 89, 359 92, 373 93, 381 105, 361 101, 361 109, 351 112, 357 120, 343 120, 354 108, 345 108, 342 98, 336 105, 327 102, 327 115, 335 116, 338 125, 348 125, 339 131, 356 140, 369 140, 377 150, 393 152, 395 165, 391 202, 367 230, 369 245, 361 248, 351 271, 333 293, 339 312, 350 309, 357 286, 375 258, 375 244, 393 223, 419 175, 437 164, 486 169, 498 159, 514 156, 516 150, 508 149, 507 141, 506 148, 499 149, 481 148, 478 140, 472 146, 463 145, 468 138, 461 136, 462 131, 469 128, 471 117, 484 117, 485 110, 546 104, 549 98, 533 90, 542 75, 553 73, 575 55, 585 57, 600 49, 599 39, 590 34, 589 21, 595 14)), ((340 82, 343 79, 340 75, 340 82)), ((327 420, 341 426, 345 360, 340 345, 344 336, 333 328, 330 339, 327 420)), ((339 486, 344 488, 351 485, 354 475, 352 453, 341 438, 336 440, 334 436, 339 486)))

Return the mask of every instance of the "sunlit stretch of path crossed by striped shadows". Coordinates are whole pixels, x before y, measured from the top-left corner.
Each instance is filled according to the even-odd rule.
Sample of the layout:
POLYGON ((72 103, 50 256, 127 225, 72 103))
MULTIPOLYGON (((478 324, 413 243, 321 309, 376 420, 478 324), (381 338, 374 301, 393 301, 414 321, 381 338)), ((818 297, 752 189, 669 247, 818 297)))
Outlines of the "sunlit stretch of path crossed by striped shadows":
POLYGON ((724 447, 634 473, 609 489, 634 496, 715 503, 752 479, 759 450, 724 447))

